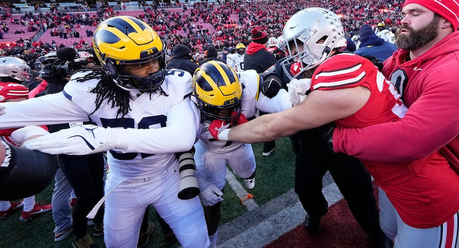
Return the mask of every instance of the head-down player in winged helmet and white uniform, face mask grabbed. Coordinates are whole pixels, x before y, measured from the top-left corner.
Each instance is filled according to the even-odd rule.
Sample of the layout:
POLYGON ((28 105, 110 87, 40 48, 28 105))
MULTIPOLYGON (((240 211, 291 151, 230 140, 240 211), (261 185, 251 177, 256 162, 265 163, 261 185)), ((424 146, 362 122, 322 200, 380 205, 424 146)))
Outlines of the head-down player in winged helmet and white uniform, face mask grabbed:
POLYGON ((255 70, 236 73, 220 61, 202 64, 193 75, 193 91, 201 112, 201 134, 194 145, 196 176, 201 189, 210 246, 216 247, 221 201, 225 186, 226 163, 244 178, 248 189, 255 186, 255 157, 252 146, 233 141, 218 141, 209 132, 218 119, 234 127, 258 115, 258 110, 279 112, 291 107, 285 90, 269 99, 260 94, 261 77, 255 70))

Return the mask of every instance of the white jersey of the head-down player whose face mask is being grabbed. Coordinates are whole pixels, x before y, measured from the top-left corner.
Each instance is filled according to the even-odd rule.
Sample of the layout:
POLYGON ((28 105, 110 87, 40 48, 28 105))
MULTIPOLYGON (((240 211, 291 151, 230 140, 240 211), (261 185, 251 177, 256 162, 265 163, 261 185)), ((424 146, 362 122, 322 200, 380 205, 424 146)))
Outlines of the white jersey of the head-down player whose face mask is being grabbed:
MULTIPOLYGON (((258 116, 258 110, 275 113, 291 107, 288 93, 283 89, 271 99, 260 92, 261 78, 255 70, 238 72, 238 78, 242 84, 242 113, 247 118, 258 116)), ((234 151, 243 145, 234 141, 215 140, 209 132, 209 126, 207 121, 201 123, 201 134, 198 136, 207 151, 221 154, 234 151)))

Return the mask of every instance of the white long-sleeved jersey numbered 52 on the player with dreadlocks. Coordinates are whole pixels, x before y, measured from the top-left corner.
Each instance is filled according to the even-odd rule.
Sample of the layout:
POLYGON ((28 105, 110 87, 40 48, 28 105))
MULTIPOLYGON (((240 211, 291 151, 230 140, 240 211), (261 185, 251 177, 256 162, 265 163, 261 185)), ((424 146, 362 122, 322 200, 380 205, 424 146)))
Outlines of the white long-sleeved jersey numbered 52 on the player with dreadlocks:
POLYGON ((191 148, 199 114, 188 97, 192 92, 188 72, 168 70, 161 85, 167 95, 158 90, 131 99, 132 110, 123 118, 117 116, 118 107, 112 108, 107 100, 94 112, 96 94, 90 91, 99 79, 77 82, 76 78, 84 73, 87 72, 73 75, 60 93, 6 103, 7 113, 0 116, 0 128, 90 120, 97 126, 124 129, 117 141, 128 143, 128 148, 107 154, 110 174, 126 179, 158 175, 177 162, 174 152, 185 151, 183 147, 191 148))

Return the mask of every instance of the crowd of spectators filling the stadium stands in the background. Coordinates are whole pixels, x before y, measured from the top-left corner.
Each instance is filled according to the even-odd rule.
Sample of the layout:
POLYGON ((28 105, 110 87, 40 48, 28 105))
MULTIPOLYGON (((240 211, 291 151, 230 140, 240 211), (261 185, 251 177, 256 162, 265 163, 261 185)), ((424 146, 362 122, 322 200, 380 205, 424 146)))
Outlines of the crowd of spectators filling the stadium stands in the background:
MULTIPOLYGON (((224 47, 235 47, 238 43, 248 45, 251 38, 250 30, 254 27, 265 31, 270 37, 278 37, 286 20, 293 13, 306 7, 322 7, 341 14, 344 29, 348 33, 357 33, 363 24, 376 26, 379 22, 385 22, 386 28, 395 29, 401 19, 400 3, 387 0, 358 0, 346 3, 338 0, 230 1, 218 7, 214 3, 206 2, 188 6, 142 4, 139 5, 139 9, 143 9, 144 12, 136 17, 150 24, 166 41, 167 52, 171 56, 172 49, 177 44, 188 46, 193 54, 204 53, 208 46, 214 46, 221 51, 224 47), (211 28, 207 24, 210 24, 211 28)), ((6 4, 2 8, 0 55, 19 56, 29 62, 32 68, 40 55, 64 46, 60 40, 80 35, 92 36, 90 30, 87 30, 86 34, 80 34, 75 28, 82 25, 95 27, 107 18, 124 15, 123 11, 120 11, 121 8, 114 6, 100 6, 94 13, 70 13, 62 11, 62 8, 51 7, 46 13, 29 12, 22 15, 13 15, 12 9, 6 4), (29 34, 25 32, 24 37, 18 40, 8 40, 6 34, 12 32, 8 28, 11 24, 27 26, 29 34), (48 29, 51 29, 51 36, 55 37, 55 45, 42 42, 39 35, 34 36, 36 33, 47 32, 48 29)), ((73 44, 77 50, 86 49, 91 45, 83 38, 79 43, 73 44)))

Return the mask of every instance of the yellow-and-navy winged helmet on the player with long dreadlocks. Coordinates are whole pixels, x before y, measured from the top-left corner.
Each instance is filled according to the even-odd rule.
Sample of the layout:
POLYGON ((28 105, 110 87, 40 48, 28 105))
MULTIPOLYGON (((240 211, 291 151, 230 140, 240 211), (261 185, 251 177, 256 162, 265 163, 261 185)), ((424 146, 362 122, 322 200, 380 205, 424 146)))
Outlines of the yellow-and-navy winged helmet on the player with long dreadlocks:
POLYGON ((153 29, 133 17, 112 17, 94 32, 94 52, 106 72, 121 88, 132 91, 155 91, 166 77, 165 44, 153 29), (148 76, 135 76, 125 65, 158 61, 158 71, 148 76))

